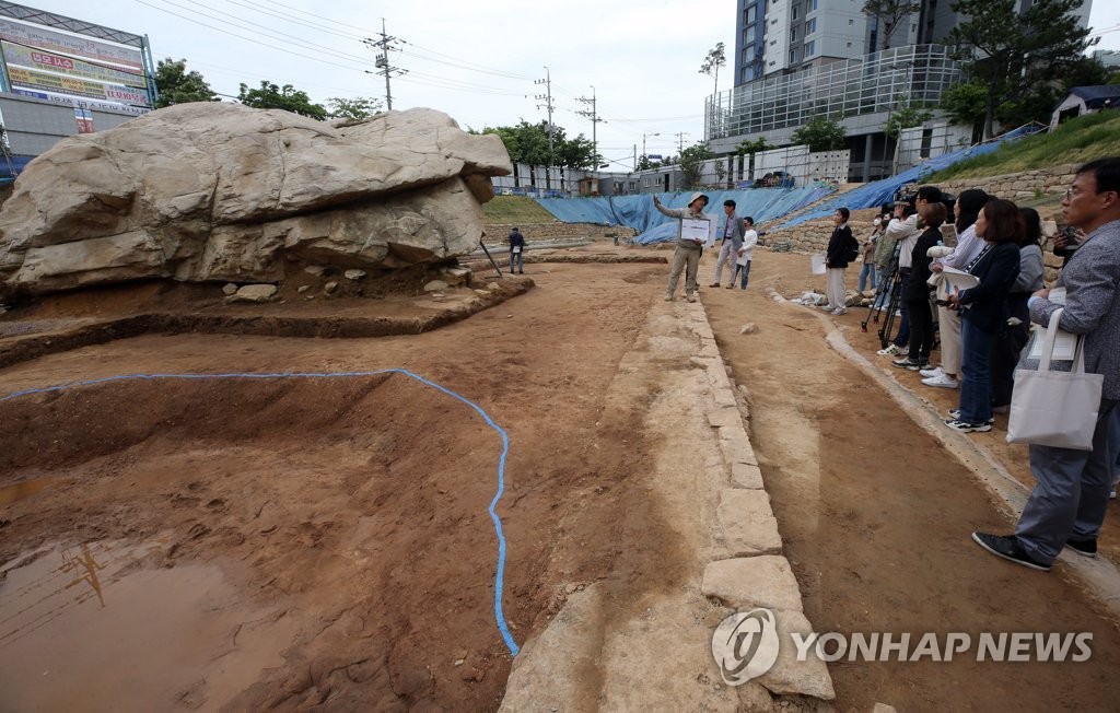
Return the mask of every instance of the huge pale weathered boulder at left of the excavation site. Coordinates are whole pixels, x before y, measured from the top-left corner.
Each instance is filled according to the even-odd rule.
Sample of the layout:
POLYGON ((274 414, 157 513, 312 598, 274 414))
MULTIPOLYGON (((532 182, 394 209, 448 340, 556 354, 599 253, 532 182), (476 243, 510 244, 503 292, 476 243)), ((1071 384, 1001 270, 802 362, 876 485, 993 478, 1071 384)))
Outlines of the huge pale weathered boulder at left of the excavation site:
POLYGON ((27 166, 0 209, 0 293, 444 260, 477 247, 489 179, 511 169, 496 135, 427 109, 329 124, 179 104, 27 166))

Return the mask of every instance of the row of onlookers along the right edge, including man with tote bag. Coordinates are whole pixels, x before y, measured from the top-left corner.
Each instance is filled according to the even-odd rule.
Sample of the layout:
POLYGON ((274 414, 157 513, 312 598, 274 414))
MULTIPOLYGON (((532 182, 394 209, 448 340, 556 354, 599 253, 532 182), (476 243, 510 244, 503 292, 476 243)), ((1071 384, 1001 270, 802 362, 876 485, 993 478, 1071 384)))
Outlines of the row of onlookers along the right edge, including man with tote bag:
MULTIPOLYGON (((1092 450, 1029 445, 1037 484, 1015 532, 974 532, 972 538, 1034 570, 1049 570, 1063 547, 1095 556, 1120 454, 1120 158, 1082 166, 1066 191, 1062 215, 1068 233, 1061 247, 1066 262, 1052 289, 1043 283, 1037 212, 965 190, 955 200, 958 240, 949 247, 940 229, 951 218, 946 203, 936 187, 923 186, 913 206, 895 206, 886 228, 881 221, 876 226, 874 242, 884 244, 864 246, 865 261, 870 252, 877 268, 899 275, 899 335, 879 354, 898 356, 894 365, 920 370, 927 386, 960 388, 946 426, 989 431, 992 414, 1011 403, 1016 368, 1037 368, 1025 349, 1030 323, 1045 327, 1062 309, 1058 327, 1081 340, 1085 370, 1104 377, 1092 450), (886 246, 894 250, 890 262, 880 252, 886 246), (941 365, 932 368, 935 319, 941 365)), ((830 269, 833 241, 848 237, 847 217, 837 214, 830 269)), ((883 298, 877 295, 877 306, 883 298)), ((1071 367, 1071 362, 1052 364, 1057 370, 1071 367)))

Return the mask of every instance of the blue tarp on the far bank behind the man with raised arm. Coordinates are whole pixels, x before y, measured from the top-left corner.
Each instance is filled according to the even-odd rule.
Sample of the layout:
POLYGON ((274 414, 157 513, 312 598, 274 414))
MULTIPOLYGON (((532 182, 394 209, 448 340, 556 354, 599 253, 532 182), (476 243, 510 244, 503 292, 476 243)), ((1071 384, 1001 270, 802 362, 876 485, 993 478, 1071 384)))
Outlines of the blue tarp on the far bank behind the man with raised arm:
MULTIPOLYGON (((736 213, 752 216, 755 223, 773 221, 820 200, 834 191, 831 186, 806 186, 804 188, 753 188, 749 190, 706 190, 709 203, 707 212, 722 217, 724 201, 734 200, 736 213)), ((661 203, 669 208, 688 207, 689 193, 657 194, 661 203)), ((657 243, 676 236, 676 222, 663 216, 653 207, 653 194, 641 196, 610 196, 603 198, 538 198, 536 203, 563 223, 596 223, 600 225, 625 225, 636 229, 635 238, 642 244, 657 243), (668 226, 668 237, 655 237, 659 226, 668 226)), ((666 229, 666 228, 663 228, 666 229)))

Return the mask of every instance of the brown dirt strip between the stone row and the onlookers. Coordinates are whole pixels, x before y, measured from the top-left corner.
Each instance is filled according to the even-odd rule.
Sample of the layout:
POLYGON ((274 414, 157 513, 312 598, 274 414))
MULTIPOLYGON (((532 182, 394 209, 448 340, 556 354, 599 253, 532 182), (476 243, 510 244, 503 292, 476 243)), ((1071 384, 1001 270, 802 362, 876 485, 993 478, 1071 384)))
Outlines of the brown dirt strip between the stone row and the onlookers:
MULTIPOLYGON (((808 256, 756 257, 747 292, 703 290, 704 307, 732 378, 749 388, 752 442, 814 629, 908 631, 915 640, 925 631, 967 632, 973 647, 984 631, 1093 634, 1092 657, 1083 663, 978 663, 974 648, 952 663, 834 663, 837 707, 1114 709, 1113 617, 1066 564, 1034 572, 977 546, 973 529, 1008 533, 1014 517, 867 374, 825 346, 825 330, 838 326, 876 368, 927 398, 931 411, 956 407, 959 392, 924 386, 916 373, 876 356, 875 329, 860 330, 866 310, 825 317, 772 300, 767 290, 788 298, 823 292, 823 279, 808 274, 808 256), (739 334, 747 322, 759 331, 739 334)), ((701 273, 710 275, 710 268, 701 273)), ((1006 416, 998 416, 993 431, 970 438, 1033 485, 1026 448, 1008 445, 1005 435, 1006 416)), ((1117 518, 1110 508, 1101 540, 1112 559, 1120 554, 1117 518)))

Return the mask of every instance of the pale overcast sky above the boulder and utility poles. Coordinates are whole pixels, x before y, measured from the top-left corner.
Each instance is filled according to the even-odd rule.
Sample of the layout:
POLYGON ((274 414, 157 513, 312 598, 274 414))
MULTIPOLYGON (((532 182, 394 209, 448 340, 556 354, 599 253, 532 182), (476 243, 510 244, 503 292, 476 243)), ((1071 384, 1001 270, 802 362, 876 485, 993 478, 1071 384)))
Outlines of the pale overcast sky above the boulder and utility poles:
MULTIPOLYGON (((633 150, 675 154, 703 139, 703 102, 715 90, 699 74, 708 50, 727 46, 719 90, 731 88, 735 0, 610 2, 526 0, 357 2, 354 0, 28 0, 28 7, 147 35, 152 55, 186 59, 214 91, 242 82, 291 84, 311 100, 384 100, 384 77, 363 38, 380 39, 382 18, 401 50, 393 66, 393 109, 430 106, 460 126, 482 129, 547 118, 545 67, 553 122, 569 137, 592 135, 615 170, 633 150), (540 81, 540 84, 535 82, 540 81), (685 132, 678 137, 679 132, 685 132), (652 135, 660 134, 660 135, 652 135)), ((1095 0, 1090 26, 1100 48, 1120 49, 1120 2, 1095 0)))

